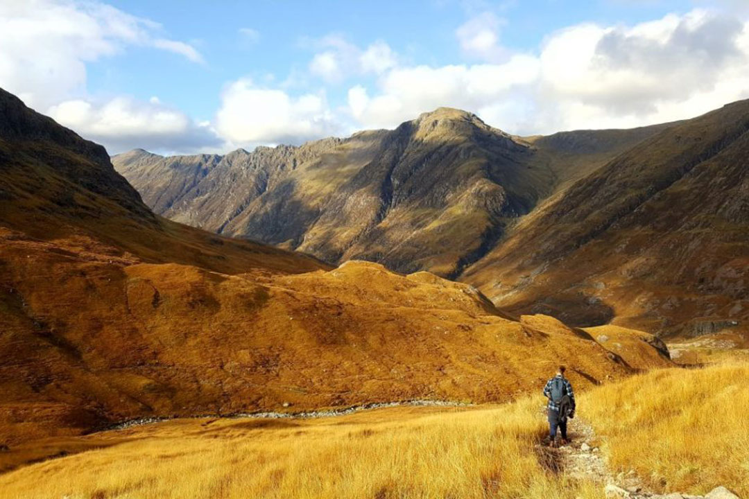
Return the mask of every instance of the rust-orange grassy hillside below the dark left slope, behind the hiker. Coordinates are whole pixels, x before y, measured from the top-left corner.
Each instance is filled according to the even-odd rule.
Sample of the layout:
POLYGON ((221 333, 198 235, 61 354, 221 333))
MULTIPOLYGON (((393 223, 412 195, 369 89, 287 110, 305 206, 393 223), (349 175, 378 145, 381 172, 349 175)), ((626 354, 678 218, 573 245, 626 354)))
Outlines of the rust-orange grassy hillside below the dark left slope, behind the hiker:
POLYGON ((373 263, 232 276, 19 236, 0 260, 11 447, 150 415, 503 401, 560 360, 585 384, 670 364, 637 334, 611 352, 555 319, 506 319, 465 284, 373 263))

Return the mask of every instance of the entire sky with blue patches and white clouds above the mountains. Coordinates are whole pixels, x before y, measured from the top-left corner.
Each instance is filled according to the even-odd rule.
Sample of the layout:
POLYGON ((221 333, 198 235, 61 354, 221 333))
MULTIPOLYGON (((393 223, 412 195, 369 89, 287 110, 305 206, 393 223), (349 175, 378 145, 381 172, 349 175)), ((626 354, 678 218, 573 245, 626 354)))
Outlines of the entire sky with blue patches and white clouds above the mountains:
POLYGON ((440 106, 517 135, 749 98, 746 0, 0 0, 0 88, 110 154, 225 153, 440 106))

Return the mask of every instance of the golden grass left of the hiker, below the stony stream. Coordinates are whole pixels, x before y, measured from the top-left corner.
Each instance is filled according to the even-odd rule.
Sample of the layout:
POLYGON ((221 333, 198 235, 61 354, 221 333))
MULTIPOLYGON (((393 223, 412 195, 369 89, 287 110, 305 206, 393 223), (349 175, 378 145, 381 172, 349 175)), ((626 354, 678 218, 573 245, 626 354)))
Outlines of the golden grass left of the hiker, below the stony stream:
POLYGON ((205 423, 131 430, 126 444, 0 476, 0 491, 19 499, 600 495, 600 487, 566 483, 539 465, 539 399, 437 414, 390 408, 325 420, 205 423))

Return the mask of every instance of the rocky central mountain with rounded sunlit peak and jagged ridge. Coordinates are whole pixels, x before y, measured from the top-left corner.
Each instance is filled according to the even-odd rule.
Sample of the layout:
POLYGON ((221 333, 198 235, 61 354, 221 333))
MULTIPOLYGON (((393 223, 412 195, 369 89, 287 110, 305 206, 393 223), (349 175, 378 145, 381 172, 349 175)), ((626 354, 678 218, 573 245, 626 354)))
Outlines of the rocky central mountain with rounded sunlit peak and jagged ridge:
POLYGON ((112 162, 162 215, 232 236, 400 272, 455 276, 558 186, 656 127, 524 140, 439 108, 395 130, 301 147, 112 162), (531 144, 533 143, 533 144, 531 144))

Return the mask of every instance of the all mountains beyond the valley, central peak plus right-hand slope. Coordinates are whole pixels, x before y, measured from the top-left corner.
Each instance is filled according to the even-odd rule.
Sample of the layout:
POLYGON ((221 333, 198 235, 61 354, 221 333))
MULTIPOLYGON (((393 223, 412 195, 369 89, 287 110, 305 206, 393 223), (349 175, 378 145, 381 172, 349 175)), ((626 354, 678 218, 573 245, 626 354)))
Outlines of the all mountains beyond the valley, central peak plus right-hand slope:
POLYGON ((300 147, 112 162, 154 211, 216 233, 458 278, 513 313, 700 334, 749 319, 748 122, 736 102, 522 138, 439 108, 300 147))

